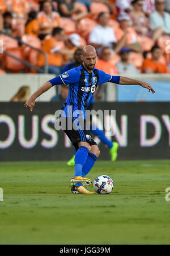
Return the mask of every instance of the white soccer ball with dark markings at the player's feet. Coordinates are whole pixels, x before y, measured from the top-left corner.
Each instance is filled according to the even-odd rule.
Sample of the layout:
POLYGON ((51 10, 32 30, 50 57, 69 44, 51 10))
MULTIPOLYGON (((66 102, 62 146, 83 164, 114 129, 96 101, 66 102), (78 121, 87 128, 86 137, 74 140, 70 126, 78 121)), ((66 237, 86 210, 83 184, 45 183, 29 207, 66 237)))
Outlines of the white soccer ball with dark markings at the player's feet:
POLYGON ((113 181, 108 175, 101 175, 94 181, 94 190, 98 194, 109 194, 113 190, 113 181))

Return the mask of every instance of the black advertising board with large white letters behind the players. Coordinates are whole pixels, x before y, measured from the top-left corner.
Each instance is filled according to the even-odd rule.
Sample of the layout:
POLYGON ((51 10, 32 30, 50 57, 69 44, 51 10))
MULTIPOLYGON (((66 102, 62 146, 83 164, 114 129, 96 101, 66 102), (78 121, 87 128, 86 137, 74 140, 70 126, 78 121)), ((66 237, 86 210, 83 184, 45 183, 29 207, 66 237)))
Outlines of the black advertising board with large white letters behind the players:
MULTIPOLYGON (((54 112, 61 106, 36 103, 29 112, 23 103, 0 103, 0 161, 66 161, 73 156, 69 139, 54 129, 54 112)), ((116 134, 111 139, 120 144, 118 160, 170 158, 170 103, 100 102, 95 109, 116 110, 116 134)), ((109 160, 109 149, 98 142, 100 160, 109 160)))

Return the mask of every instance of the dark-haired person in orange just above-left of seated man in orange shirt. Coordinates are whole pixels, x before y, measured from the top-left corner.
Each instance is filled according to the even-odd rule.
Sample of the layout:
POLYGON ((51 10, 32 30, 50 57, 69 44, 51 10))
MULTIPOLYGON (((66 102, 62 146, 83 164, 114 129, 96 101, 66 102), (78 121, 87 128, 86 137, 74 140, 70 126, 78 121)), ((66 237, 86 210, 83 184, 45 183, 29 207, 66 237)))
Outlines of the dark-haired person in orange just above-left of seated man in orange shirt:
POLYGON ((39 34, 41 34, 41 30, 36 17, 37 17, 36 11, 29 12, 28 21, 25 26, 25 33, 27 33, 28 35, 39 36, 39 34))

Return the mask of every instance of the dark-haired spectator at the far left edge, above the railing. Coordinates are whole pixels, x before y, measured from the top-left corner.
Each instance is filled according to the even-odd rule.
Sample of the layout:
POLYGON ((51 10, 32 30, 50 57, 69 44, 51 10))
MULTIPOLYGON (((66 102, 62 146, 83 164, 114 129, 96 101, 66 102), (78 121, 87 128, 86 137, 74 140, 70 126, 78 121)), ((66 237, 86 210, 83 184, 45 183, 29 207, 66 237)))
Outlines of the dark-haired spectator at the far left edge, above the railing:
POLYGON ((1 32, 12 35, 12 14, 11 12, 5 12, 2 17, 2 25, 0 27, 1 32))

